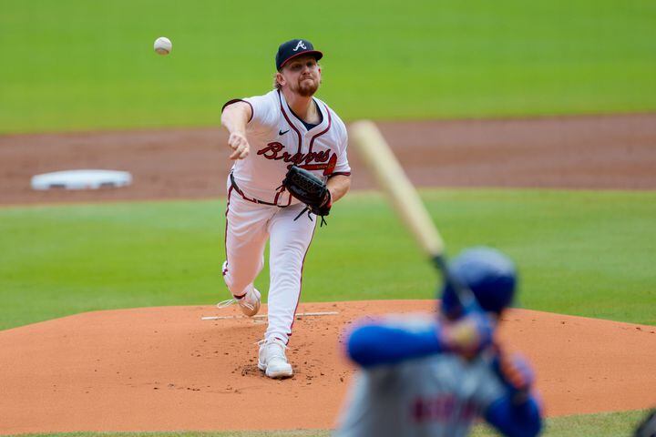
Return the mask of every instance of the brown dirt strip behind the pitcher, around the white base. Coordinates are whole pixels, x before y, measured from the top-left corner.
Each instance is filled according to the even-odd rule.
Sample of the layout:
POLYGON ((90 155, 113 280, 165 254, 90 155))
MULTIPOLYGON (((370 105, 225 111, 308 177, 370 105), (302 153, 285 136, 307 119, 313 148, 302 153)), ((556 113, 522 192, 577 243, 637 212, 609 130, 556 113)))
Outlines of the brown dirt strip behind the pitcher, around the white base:
MULTIPOLYGON (((656 188, 656 114, 385 122, 410 177, 426 187, 656 188)), ((0 137, 0 204, 224 196, 231 164, 219 128, 0 137), (127 170, 129 188, 36 192, 33 175, 127 170)), ((372 179, 350 155, 354 189, 372 179)))

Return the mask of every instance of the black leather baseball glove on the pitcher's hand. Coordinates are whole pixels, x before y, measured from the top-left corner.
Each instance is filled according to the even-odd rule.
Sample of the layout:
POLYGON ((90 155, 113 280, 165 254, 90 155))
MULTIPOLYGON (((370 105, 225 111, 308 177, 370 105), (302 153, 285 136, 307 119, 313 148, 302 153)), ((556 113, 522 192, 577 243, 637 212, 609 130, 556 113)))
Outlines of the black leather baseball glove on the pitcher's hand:
POLYGON ((333 205, 330 191, 321 178, 317 178, 309 170, 292 166, 282 180, 282 186, 287 188, 294 198, 298 198, 306 205, 296 219, 301 217, 303 212, 308 211, 308 217, 311 220, 310 213, 320 216, 323 226, 326 222, 323 217, 330 214, 330 208, 333 205))

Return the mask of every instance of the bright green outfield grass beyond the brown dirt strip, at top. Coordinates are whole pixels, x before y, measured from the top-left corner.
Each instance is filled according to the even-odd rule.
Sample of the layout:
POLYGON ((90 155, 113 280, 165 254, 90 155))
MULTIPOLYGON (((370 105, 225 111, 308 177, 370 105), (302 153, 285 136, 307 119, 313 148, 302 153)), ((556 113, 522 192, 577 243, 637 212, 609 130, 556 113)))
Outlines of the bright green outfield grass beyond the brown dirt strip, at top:
POLYGON ((656 109, 649 0, 4 0, 0 133, 217 125, 297 36, 325 52, 320 95, 346 119, 656 109))

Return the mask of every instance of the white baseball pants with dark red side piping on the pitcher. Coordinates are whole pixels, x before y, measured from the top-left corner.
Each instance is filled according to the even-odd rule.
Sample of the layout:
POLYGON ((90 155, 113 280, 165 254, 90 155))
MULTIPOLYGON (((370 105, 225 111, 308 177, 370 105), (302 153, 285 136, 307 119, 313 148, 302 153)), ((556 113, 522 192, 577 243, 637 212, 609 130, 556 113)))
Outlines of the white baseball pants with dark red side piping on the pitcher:
POLYGON ((241 297, 253 287, 264 266, 264 247, 269 244, 269 325, 264 338, 287 343, 301 298, 302 266, 313 239, 316 219, 296 216, 303 204, 279 208, 242 198, 228 183, 226 210, 226 257, 223 271, 232 296, 241 297))

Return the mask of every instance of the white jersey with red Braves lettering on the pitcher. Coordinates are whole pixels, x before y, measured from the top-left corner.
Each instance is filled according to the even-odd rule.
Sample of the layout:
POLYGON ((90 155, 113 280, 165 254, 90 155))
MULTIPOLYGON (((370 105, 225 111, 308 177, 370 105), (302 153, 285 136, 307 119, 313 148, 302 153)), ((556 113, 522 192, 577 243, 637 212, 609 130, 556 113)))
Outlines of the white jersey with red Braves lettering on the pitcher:
POLYGON ((281 187, 293 164, 311 170, 324 180, 334 175, 350 175, 343 121, 323 101, 314 97, 322 122, 308 130, 296 117, 278 90, 264 96, 241 100, 251 105, 246 137, 251 145, 247 158, 238 160, 232 174, 237 186, 249 198, 275 205, 299 203, 281 187))

